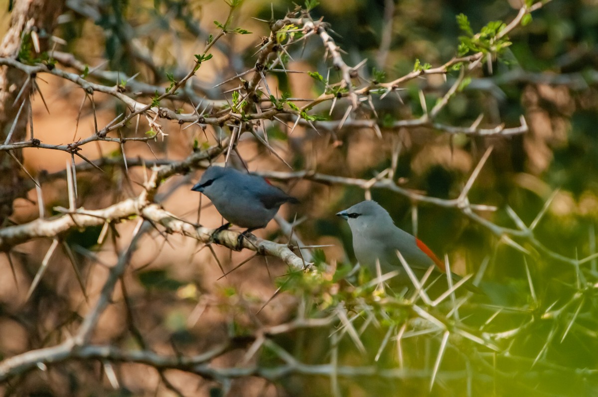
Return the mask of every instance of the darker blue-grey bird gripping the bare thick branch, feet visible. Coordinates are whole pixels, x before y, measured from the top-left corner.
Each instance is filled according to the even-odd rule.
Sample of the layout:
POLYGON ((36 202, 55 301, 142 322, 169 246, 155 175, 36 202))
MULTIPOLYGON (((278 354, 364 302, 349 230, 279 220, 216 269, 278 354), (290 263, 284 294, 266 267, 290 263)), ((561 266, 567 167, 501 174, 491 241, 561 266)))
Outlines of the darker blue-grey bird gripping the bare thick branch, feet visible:
POLYGON ((220 215, 230 224, 246 228, 239 236, 239 245, 246 234, 266 227, 284 203, 299 203, 266 179, 249 175, 230 167, 210 166, 202 178, 191 188, 210 199, 220 215))

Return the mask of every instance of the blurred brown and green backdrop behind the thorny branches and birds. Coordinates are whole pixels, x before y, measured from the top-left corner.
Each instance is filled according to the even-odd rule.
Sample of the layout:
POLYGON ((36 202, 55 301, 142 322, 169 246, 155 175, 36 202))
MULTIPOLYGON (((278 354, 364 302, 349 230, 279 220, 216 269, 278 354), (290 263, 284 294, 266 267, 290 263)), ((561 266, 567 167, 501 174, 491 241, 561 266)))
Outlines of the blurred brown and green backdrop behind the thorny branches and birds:
MULTIPOLYGON (((532 20, 509 33, 512 44, 491 66, 484 62, 469 72, 469 84, 450 97, 435 119, 444 126, 465 128, 482 115, 479 127, 491 129, 517 127, 523 116, 529 127, 524 133, 481 136, 447 133, 430 126, 393 127, 395 121, 420 117, 425 111, 422 103, 431 109, 459 77, 458 70, 409 80, 401 90, 385 97, 374 94, 371 105, 376 112, 362 103, 352 120, 377 120, 380 135, 351 123, 329 130, 317 128, 316 122, 315 130, 306 124, 292 129, 292 121, 263 121, 271 148, 294 171, 368 181, 390 167, 392 180, 399 187, 444 200, 459 196, 486 149, 493 146, 468 196, 471 203, 496 207, 477 212, 481 221, 454 206, 418 202, 389 189, 364 191, 343 180, 335 183, 285 176, 292 170, 245 133, 237 149, 248 169, 279 176, 272 178, 273 183, 301 200, 297 206, 283 206, 279 214, 288 222, 295 217, 301 220, 294 231, 305 245, 324 246, 310 250, 320 276, 295 274, 276 258, 258 256, 219 279, 222 270, 215 256, 228 271, 253 253, 232 252, 217 245, 208 249, 176 234, 166 237, 155 232, 142 239, 142 248, 132 256, 113 295, 114 304, 100 317, 93 343, 141 349, 138 333, 147 345, 144 349, 191 356, 228 340, 234 348, 210 362, 213 367, 234 369, 249 363, 263 372, 219 378, 176 369, 156 371, 139 363, 114 363, 115 382, 100 361, 67 361, 47 371, 14 377, 0 384, 0 390, 5 395, 31 396, 596 395, 598 270, 596 259, 576 259, 596 253, 597 6, 594 0, 553 0, 534 11, 532 20), (275 171, 281 174, 273 174, 275 171), (414 323, 420 314, 412 308, 395 304, 395 300, 385 306, 374 288, 359 288, 355 276, 343 280, 355 264, 355 256, 349 227, 334 214, 370 194, 388 209, 396 225, 417 234, 438 255, 448 255, 457 274, 483 268, 481 286, 486 295, 460 303, 459 326, 487 343, 475 344, 454 332, 448 347, 443 347, 443 332, 426 332, 425 325, 414 323), (544 210, 534 224, 532 239, 496 233, 489 227, 519 228, 513 213, 529 226, 544 210), (282 293, 269 301, 279 287, 282 293), (341 319, 341 312, 358 331, 361 347, 347 332, 351 327, 341 319), (256 351, 247 341, 263 335, 258 331, 270 326, 328 316, 336 317, 326 326, 291 327, 288 332, 272 334, 271 344, 256 351), (409 324, 408 328, 404 324, 409 324), (405 333, 409 335, 403 340, 405 333), (285 364, 277 349, 312 366, 313 372, 274 373, 285 364), (331 375, 332 370, 325 367, 331 362, 331 352, 340 367, 357 368, 355 374, 341 371, 338 378, 331 375), (440 364, 438 352, 444 352, 440 364), (173 387, 167 385, 163 374, 173 387), (431 377, 435 377, 432 387, 431 377)), ((508 24, 520 7, 520 0, 322 1, 310 10, 310 16, 329 24, 332 38, 345 51, 347 65, 366 60, 354 81, 359 87, 371 80, 383 83, 407 75, 417 62, 433 68, 449 62, 459 50, 459 37, 465 34, 456 20, 459 14, 465 14, 472 30, 479 32, 492 21, 508 24)), ((0 1, 0 35, 8 31, 8 10, 9 2, 0 1)), ((295 10, 294 3, 243 2, 233 14, 232 26, 251 33, 230 33, 219 39, 210 50, 213 58, 203 62, 190 80, 194 96, 168 97, 160 105, 190 113, 200 99, 230 103, 231 90, 242 83, 229 79, 254 66, 261 38, 270 34, 269 24, 261 20, 282 19, 289 10, 295 10), (222 82, 226 83, 216 86, 222 82)), ((202 53, 208 36, 219 32, 213 21, 224 22, 229 11, 221 0, 69 0, 53 32, 63 42, 53 50, 72 54, 80 64, 56 56, 56 67, 86 75, 87 80, 107 87, 125 80, 128 96, 150 103, 154 87, 169 86, 167 74, 181 78, 193 69, 194 54, 202 53), (89 74, 80 70, 81 65, 89 74), (115 72, 115 79, 101 73, 109 71, 115 72), (131 77, 134 79, 129 80, 131 77)), ((324 93, 324 84, 308 71, 319 72, 331 84, 341 80, 318 36, 297 41, 286 51, 285 68, 292 72, 278 68, 280 71, 267 74, 275 97, 289 93, 290 102, 303 106, 304 99, 324 93)), ((85 139, 93 135, 96 124, 102 128, 127 111, 123 102, 99 92, 94 93, 92 107, 79 85, 55 75, 40 74, 37 81, 43 100, 39 94, 32 96, 32 120, 35 138, 43 143, 64 145, 85 139)), ((339 99, 334 106, 327 100, 313 106, 309 114, 338 121, 349 105, 347 99, 339 99)), ((224 109, 207 107, 200 105, 199 109, 206 115, 224 109)), ((142 163, 151 167, 160 161, 184 160, 194 150, 215 145, 231 133, 228 126, 185 128, 190 123, 164 118, 157 123, 164 135, 147 142, 129 141, 124 149, 117 142, 81 146, 81 154, 89 160, 105 161, 99 163, 102 172, 81 159, 76 161, 81 163, 77 170, 79 207, 102 209, 138 196, 147 172, 142 163), (130 160, 127 169, 123 153, 130 160)), ((141 117, 121 128, 119 134, 144 137, 153 128, 141 117)), ((212 160, 224 162, 224 155, 212 160)), ((62 151, 22 150, 23 166, 42 182, 41 200, 29 177, 8 161, 9 167, 19 170, 19 183, 31 186, 13 201, 4 227, 38 218, 40 203, 45 216, 56 215, 57 206, 69 206, 68 161, 71 155, 62 151)), ((215 228, 222 224, 221 216, 206 197, 200 199, 190 191, 201 174, 197 169, 170 177, 157 200, 181 219, 215 228)), ((29 286, 51 240, 35 239, 14 247, 12 264, 3 255, 0 358, 68 339, 90 309, 72 258, 93 302, 105 282, 106 267, 115 263, 135 226, 136 221, 120 222, 101 244, 102 227, 74 229, 60 236, 72 254, 69 248, 57 249, 29 298, 29 286), (13 269, 15 277, 11 276, 13 269)), ((281 243, 289 241, 288 231, 276 222, 255 234, 281 243)), ((428 311, 444 316, 453 307, 454 302, 428 311)), ((450 329, 454 323, 450 316, 446 319, 450 329)))

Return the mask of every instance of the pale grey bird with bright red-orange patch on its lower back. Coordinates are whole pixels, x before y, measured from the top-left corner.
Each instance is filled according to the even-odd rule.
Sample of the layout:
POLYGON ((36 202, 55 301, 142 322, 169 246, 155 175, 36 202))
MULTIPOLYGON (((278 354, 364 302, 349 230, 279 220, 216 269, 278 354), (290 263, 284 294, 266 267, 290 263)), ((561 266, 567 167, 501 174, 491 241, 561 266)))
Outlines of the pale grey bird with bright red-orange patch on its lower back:
MULTIPOLYGON (((423 271, 432 265, 435 265, 437 270, 446 272, 444 262, 421 240, 396 227, 388 211, 376 201, 361 201, 336 215, 349 222, 355 257, 359 264, 370 268, 373 274, 376 274, 376 261, 380 262, 382 273, 403 270, 396 251, 401 253, 416 274, 423 274, 423 271)), ((407 282, 407 275, 404 271, 401 273, 402 277, 399 277, 399 280, 407 282)), ((453 280, 460 279, 456 274, 453 274, 453 277, 453 280)), ((465 283, 464 286, 479 292, 472 283, 465 283)))

